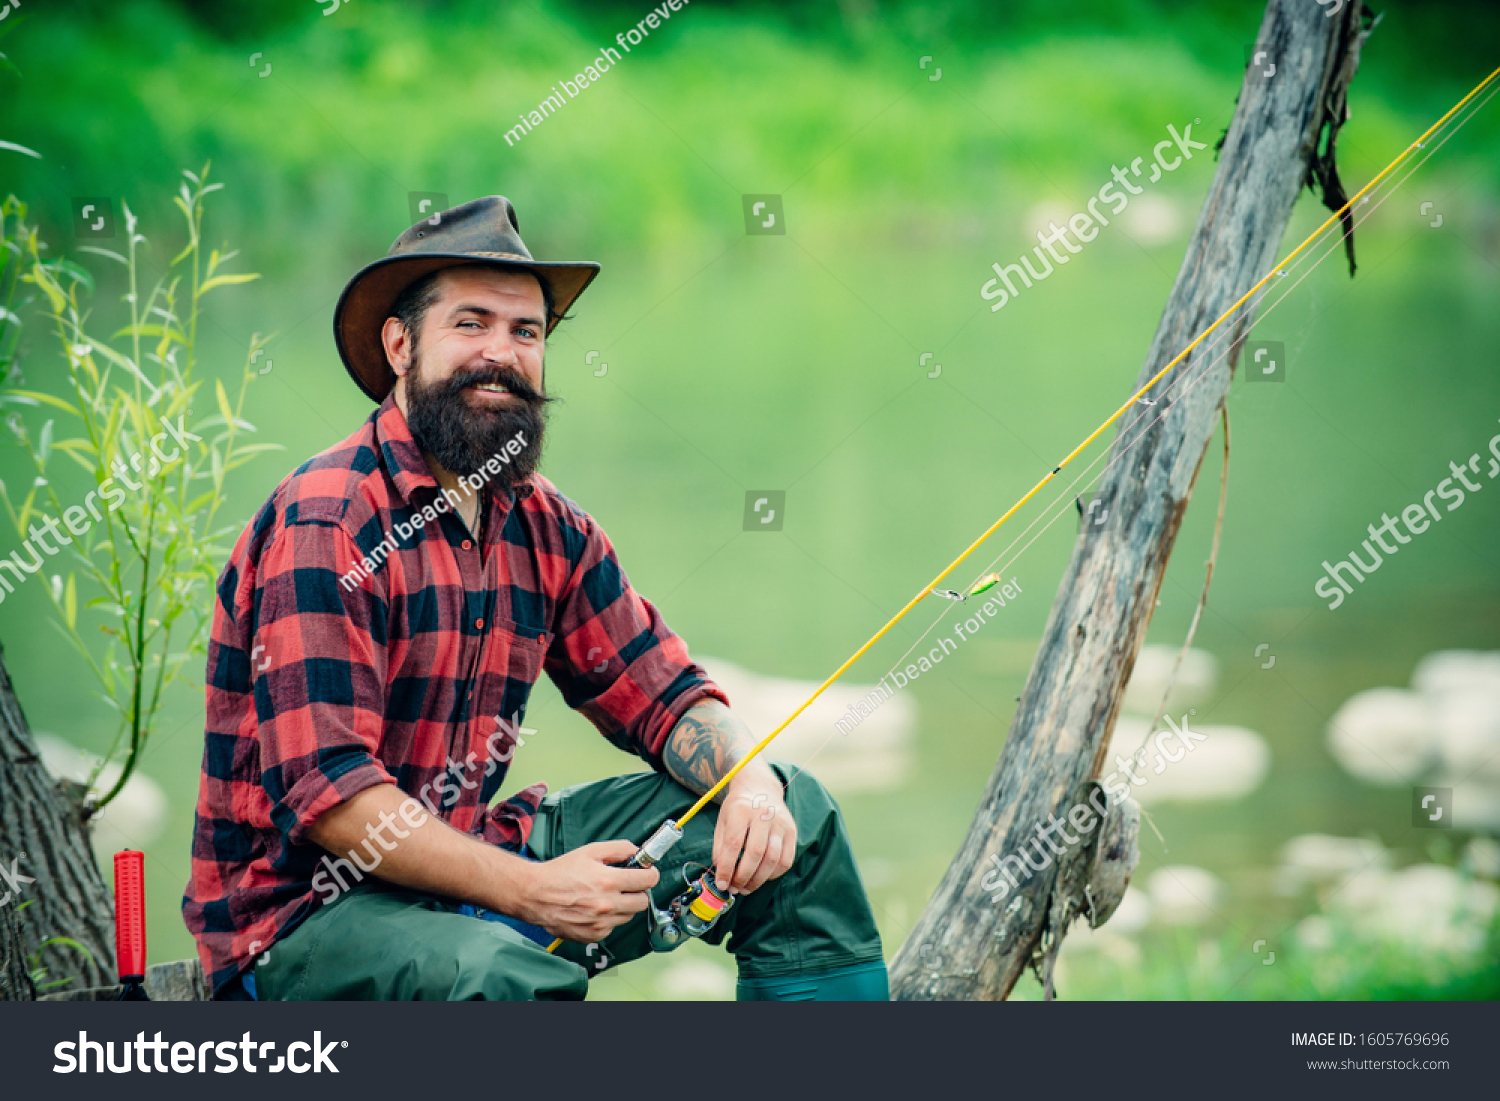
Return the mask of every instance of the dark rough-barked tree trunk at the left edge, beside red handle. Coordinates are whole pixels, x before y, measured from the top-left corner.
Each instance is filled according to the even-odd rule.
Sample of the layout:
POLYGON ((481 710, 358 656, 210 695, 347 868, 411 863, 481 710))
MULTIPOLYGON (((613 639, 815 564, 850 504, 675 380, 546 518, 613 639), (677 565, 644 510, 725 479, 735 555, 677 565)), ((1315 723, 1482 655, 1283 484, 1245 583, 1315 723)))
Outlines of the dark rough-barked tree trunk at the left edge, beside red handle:
MULTIPOLYGON (((32 902, 16 916, 24 950, 21 966, 26 957, 40 954, 48 982, 72 978, 70 987, 100 987, 117 978, 114 906, 94 864, 81 804, 70 789, 76 784, 58 783, 42 765, 0 646, 0 858, 6 872, 16 861, 16 873, 36 880, 21 884, 18 897, 6 908, 32 902), (44 948, 52 936, 78 940, 90 956, 64 945, 44 948)), ((6 890, 9 884, 0 884, 0 894, 6 890)), ((9 957, 9 940, 6 951, 9 957)), ((0 999, 12 996, 0 987, 0 999)))

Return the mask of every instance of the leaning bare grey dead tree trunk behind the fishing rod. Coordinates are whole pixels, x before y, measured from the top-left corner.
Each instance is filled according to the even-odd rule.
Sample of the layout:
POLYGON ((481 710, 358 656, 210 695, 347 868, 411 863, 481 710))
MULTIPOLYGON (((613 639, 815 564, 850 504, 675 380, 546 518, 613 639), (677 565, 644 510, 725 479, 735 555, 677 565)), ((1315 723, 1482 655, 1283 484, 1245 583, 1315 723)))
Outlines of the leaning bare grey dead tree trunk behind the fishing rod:
MULTIPOLYGON (((1143 387, 1198 333, 1254 286, 1270 266, 1304 184, 1318 184, 1329 208, 1346 202, 1334 142, 1347 117, 1346 93, 1368 34, 1359 0, 1340 12, 1314 0, 1270 0, 1226 134, 1208 200, 1188 243, 1136 387, 1143 387), (1272 69, 1274 66, 1274 69, 1272 69)), ((1352 220, 1344 219, 1352 230, 1352 220)), ((1353 270, 1350 240, 1348 262, 1353 270)), ((1083 916, 1095 924, 1118 904, 1134 867, 1134 804, 1110 810, 1084 834, 1066 825, 1072 807, 1095 806, 1096 777, 1120 696, 1167 570, 1182 514, 1220 422, 1254 300, 1196 348, 1154 388, 1155 408, 1134 406, 1120 423, 1096 500, 1108 510, 1084 525, 1058 590, 1041 648, 1011 723, 1005 750, 938 892, 891 964, 898 999, 1000 999, 1032 963, 1050 962, 1083 916), (1215 362, 1218 360, 1218 362, 1215 362), (1126 450, 1128 448, 1128 450, 1126 450), (1038 860, 1040 870, 1000 878, 1014 854, 1042 856, 1038 826, 1062 822, 1077 843, 1038 860), (992 902, 992 894, 999 902, 992 902)), ((1084 820, 1088 820, 1084 818, 1084 820)), ((1053 849, 1052 852, 1056 852, 1053 849)), ((1029 862, 1029 861, 1028 861, 1029 862)))

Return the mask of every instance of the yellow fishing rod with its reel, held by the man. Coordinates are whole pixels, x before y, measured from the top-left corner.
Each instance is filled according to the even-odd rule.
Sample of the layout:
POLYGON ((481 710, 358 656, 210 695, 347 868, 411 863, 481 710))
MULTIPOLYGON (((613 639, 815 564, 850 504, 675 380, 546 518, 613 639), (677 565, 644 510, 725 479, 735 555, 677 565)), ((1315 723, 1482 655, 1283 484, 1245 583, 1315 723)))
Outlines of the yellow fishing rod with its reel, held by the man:
MULTIPOLYGON (((704 792, 702 796, 699 796, 698 802, 694 802, 687 810, 687 813, 684 813, 678 819, 668 819, 666 822, 663 822, 657 828, 657 831, 654 834, 651 834, 651 837, 639 849, 636 849, 634 855, 626 862, 624 867, 648 868, 648 867, 656 866, 662 860, 662 856, 664 856, 672 849, 672 846, 676 844, 682 838, 682 826, 686 826, 688 824, 688 820, 694 814, 698 814, 704 807, 706 807, 710 802, 712 802, 714 796, 718 795, 718 792, 722 792, 724 789, 724 786, 730 780, 734 780, 735 776, 740 774, 740 770, 742 770, 746 765, 748 765, 756 758, 756 754, 759 754, 766 746, 770 746, 771 741, 782 730, 784 730, 788 726, 790 726, 792 722, 795 722, 800 714, 802 714, 808 706, 812 706, 813 702, 819 696, 824 694, 824 692, 828 688, 828 686, 831 686, 834 681, 837 681, 840 676, 843 676, 843 674, 849 669, 849 666, 852 666, 855 662, 858 662, 861 657, 864 657, 868 652, 870 646, 873 646, 876 642, 879 642, 882 638, 885 638, 885 633, 890 632, 891 627, 894 627, 896 624, 898 624, 902 621, 902 618, 908 612, 910 612, 927 596, 930 596, 932 591, 944 580, 944 578, 946 578, 950 573, 952 573, 954 570, 957 570, 963 564, 963 561, 969 555, 972 555, 980 548, 981 543, 984 543, 990 536, 993 536, 996 531, 999 531, 1000 525, 1005 524, 1005 520, 1008 520, 1011 516, 1014 516, 1022 508, 1022 506, 1024 506, 1028 501, 1030 501, 1034 496, 1036 496, 1036 494, 1041 492, 1042 486, 1046 486, 1048 482, 1052 482, 1054 477, 1058 477, 1058 474, 1062 472, 1062 468, 1066 466, 1070 462, 1072 462, 1078 456, 1078 453, 1083 452, 1083 448, 1086 448, 1089 444, 1092 444, 1095 440, 1098 440, 1100 435, 1106 429, 1110 428, 1110 424, 1113 424, 1120 417, 1124 417, 1130 411, 1130 408, 1132 405, 1136 405, 1136 402, 1140 398, 1143 398, 1150 390, 1150 387, 1154 387, 1156 382, 1160 382, 1167 375, 1168 370, 1172 370, 1179 363, 1182 363, 1182 360, 1186 358, 1186 356, 1194 348, 1197 348, 1200 344, 1203 344, 1203 340, 1209 336, 1209 333, 1212 333, 1215 328, 1218 328, 1221 324, 1224 324, 1224 321, 1228 320, 1228 316, 1232 314, 1234 314, 1234 310, 1238 310, 1240 306, 1244 306, 1245 302, 1248 302, 1251 298, 1251 296, 1254 296, 1262 286, 1264 286, 1268 282, 1270 282, 1270 279, 1275 274, 1281 273, 1287 267, 1287 264, 1290 264, 1293 260, 1296 260, 1310 244, 1312 244, 1312 242, 1317 240, 1317 237, 1324 230, 1328 230, 1330 225, 1334 225, 1334 222, 1336 222, 1344 214, 1344 212, 1347 212, 1352 206, 1354 206, 1356 202, 1359 202, 1370 192, 1371 188, 1374 188, 1377 183, 1380 183, 1383 178, 1386 178, 1390 172, 1394 172, 1401 165, 1401 162, 1406 160, 1413 153, 1413 150, 1422 148, 1425 146, 1426 140, 1432 136, 1432 134, 1436 134, 1449 118, 1452 118, 1458 111, 1461 111, 1464 108, 1464 105, 1467 105, 1470 100, 1473 100, 1474 96, 1478 96, 1480 92, 1484 92, 1485 87, 1488 87, 1497 76, 1500 76, 1500 69, 1496 69, 1488 76, 1485 76, 1479 84, 1476 84, 1474 88, 1467 96, 1464 96, 1456 104, 1454 104, 1443 114, 1442 118, 1438 118, 1436 123, 1432 123, 1430 128, 1426 128, 1426 130, 1416 141, 1413 141, 1410 146, 1407 146, 1404 150, 1401 150, 1401 153, 1398 153, 1396 158, 1389 165, 1386 165, 1384 168, 1382 168, 1380 172, 1374 178, 1370 180, 1370 183, 1366 183, 1364 188, 1360 188, 1358 192, 1354 192, 1348 198, 1348 201, 1344 202, 1344 206, 1341 206, 1338 210, 1335 210, 1332 214, 1329 214, 1328 220, 1324 220, 1323 225, 1320 225, 1317 230, 1314 230, 1311 234, 1308 234, 1306 240, 1304 240, 1300 244, 1298 244, 1298 248, 1292 249, 1292 252, 1288 252, 1286 255, 1286 258, 1282 258, 1282 261, 1280 264, 1275 264, 1266 274, 1263 274, 1256 282, 1256 285, 1251 286, 1248 291, 1245 291, 1239 297, 1239 300, 1234 302, 1233 306, 1230 306, 1227 310, 1224 310, 1214 321, 1214 324, 1210 324, 1208 328, 1204 328, 1202 333, 1198 333, 1198 336, 1192 340, 1192 344, 1190 344, 1186 348, 1184 348, 1176 356, 1173 356, 1172 360, 1161 370, 1158 370, 1155 375, 1150 376, 1150 380, 1146 382, 1146 386, 1140 387, 1138 390, 1136 390, 1136 393, 1132 393, 1130 398, 1126 398, 1125 402, 1124 402, 1124 405, 1120 405, 1108 417, 1108 420, 1106 420, 1102 424, 1100 424, 1096 429, 1094 429, 1088 436, 1084 436, 1084 440, 1083 440, 1082 444, 1078 444, 1071 452, 1068 452, 1066 458, 1062 462, 1059 462, 1056 466, 1053 466, 1052 471, 1041 482, 1038 482, 1035 486, 1032 486, 1030 490, 1028 490, 1024 496, 1022 496, 1016 504, 1012 504, 1010 508, 1006 508, 1005 513, 998 520, 994 520, 994 524, 992 524, 988 528, 986 528, 984 532, 976 540, 974 540, 964 549, 964 552, 962 555, 958 555, 957 558, 954 558, 946 566, 946 568, 942 573, 939 573, 936 578, 933 578, 930 582, 927 582, 927 585, 915 597, 912 597, 910 600, 908 600, 906 606, 902 608, 900 612, 897 612, 896 615, 892 615, 890 618, 890 621, 884 627, 880 627, 880 630, 878 630, 874 634, 872 634, 870 639, 862 646, 860 646, 854 654, 849 656, 849 660, 846 660, 842 666, 838 666, 837 669, 834 669, 828 675, 828 680, 825 680, 822 684, 819 684, 813 690, 813 694, 808 696, 806 700, 802 700, 802 704, 796 708, 796 711, 794 711, 792 714, 789 714, 782 722, 780 726, 777 726, 774 730, 771 730, 771 734, 765 735, 760 741, 758 741, 754 746, 752 746, 750 752, 746 753, 738 762, 735 762, 734 768, 730 768, 728 772, 724 772, 718 778, 718 783, 716 783, 712 788, 710 788, 706 792, 704 792)), ((729 906, 729 902, 728 900, 722 900, 717 896, 717 892, 716 892, 716 890, 712 886, 712 878, 708 876, 708 874, 705 874, 702 879, 699 879, 696 884, 693 884, 690 886, 690 890, 687 891, 687 894, 682 896, 682 898, 678 898, 678 900, 675 900, 672 903, 672 908, 670 908, 669 912, 656 910, 654 903, 651 906, 651 910, 654 910, 652 916, 657 918, 658 921, 666 920, 668 916, 672 916, 672 918, 678 918, 680 915, 681 916, 687 916, 688 918, 688 930, 686 932, 686 934, 687 936, 698 936, 698 933, 693 932, 693 928, 692 928, 693 924, 694 924, 692 921, 693 915, 699 916, 699 922, 702 922, 706 918, 708 924, 712 924, 712 920, 717 920, 717 915, 722 914, 723 909, 728 909, 728 906, 729 906), (712 916, 711 918, 708 916, 708 910, 712 910, 712 916), (660 916, 657 916, 657 915, 660 915, 660 916)), ((674 928, 678 932, 678 939, 674 940, 670 944, 670 946, 675 948, 684 933, 681 933, 681 922, 680 921, 678 921, 678 924, 674 928)), ((558 945, 561 945, 561 944, 562 944, 562 938, 558 938, 556 940, 554 940, 548 946, 548 951, 549 952, 550 951, 556 951, 558 945)))

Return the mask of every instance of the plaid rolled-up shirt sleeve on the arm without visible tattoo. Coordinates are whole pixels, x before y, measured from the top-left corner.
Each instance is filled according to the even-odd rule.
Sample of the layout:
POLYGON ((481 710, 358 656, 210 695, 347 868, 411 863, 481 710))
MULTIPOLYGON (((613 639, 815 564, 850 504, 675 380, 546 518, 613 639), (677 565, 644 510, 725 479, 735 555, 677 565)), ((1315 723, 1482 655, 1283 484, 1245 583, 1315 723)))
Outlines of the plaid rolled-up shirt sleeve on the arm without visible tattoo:
POLYGON ((376 579, 352 580, 358 561, 340 524, 300 519, 266 548, 255 582, 260 778, 272 825, 294 844, 324 812, 396 783, 378 758, 387 606, 376 579))

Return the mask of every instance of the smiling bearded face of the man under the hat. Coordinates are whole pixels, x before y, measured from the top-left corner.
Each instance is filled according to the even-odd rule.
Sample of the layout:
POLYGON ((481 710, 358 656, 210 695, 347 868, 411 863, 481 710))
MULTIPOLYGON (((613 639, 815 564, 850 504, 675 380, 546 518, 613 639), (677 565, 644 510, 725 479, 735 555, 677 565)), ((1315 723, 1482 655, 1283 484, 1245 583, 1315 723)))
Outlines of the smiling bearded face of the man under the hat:
POLYGON ((522 452, 495 478, 536 470, 544 428, 542 286, 525 272, 454 268, 438 276, 420 332, 386 322, 396 402, 412 440, 444 470, 474 474, 522 435, 522 452))

